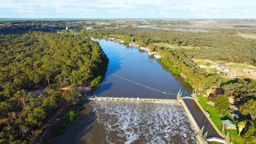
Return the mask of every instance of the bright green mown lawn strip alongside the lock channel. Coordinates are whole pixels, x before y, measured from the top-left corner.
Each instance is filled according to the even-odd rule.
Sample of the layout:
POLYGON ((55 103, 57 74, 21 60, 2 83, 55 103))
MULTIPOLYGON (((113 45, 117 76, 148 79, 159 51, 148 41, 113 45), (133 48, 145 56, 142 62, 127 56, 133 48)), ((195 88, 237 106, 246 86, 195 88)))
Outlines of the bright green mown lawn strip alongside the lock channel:
MULTIPOLYGON (((237 119, 235 120, 229 114, 225 114, 225 112, 221 113, 221 111, 217 111, 217 110, 213 109, 213 105, 206 103, 207 102, 206 97, 199 96, 199 95, 197 97, 199 98, 199 103, 202 105, 202 107, 204 107, 205 110, 208 108, 208 113, 210 114, 211 119, 213 120, 213 122, 217 125, 217 127, 220 130, 222 130, 221 120, 229 119, 229 120, 232 120, 236 124, 237 119), (222 116, 220 116, 220 114, 222 116)), ((238 137, 238 133, 239 133, 238 129, 234 129, 234 130, 228 129, 225 131, 226 131, 226 133, 228 132, 228 135, 230 136, 230 138, 234 144, 246 144, 246 142, 241 137, 238 137)))

